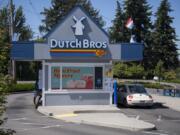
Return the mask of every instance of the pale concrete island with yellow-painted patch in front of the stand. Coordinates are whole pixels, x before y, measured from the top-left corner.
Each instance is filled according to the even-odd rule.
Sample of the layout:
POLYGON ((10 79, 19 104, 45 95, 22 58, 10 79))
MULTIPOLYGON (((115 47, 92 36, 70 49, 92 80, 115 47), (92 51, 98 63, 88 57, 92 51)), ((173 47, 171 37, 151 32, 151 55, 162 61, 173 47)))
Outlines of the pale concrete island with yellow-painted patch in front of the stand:
POLYGON ((48 106, 39 107, 38 111, 67 122, 128 130, 155 129, 155 125, 138 118, 127 117, 112 105, 48 106))

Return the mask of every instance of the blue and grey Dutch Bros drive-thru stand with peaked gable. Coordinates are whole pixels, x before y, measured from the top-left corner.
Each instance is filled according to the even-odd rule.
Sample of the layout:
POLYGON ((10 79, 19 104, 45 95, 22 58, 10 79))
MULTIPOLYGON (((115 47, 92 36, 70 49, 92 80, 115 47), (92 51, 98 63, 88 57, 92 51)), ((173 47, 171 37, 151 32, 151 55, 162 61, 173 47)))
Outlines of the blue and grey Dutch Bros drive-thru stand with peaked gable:
POLYGON ((80 6, 46 36, 13 42, 11 59, 42 62, 43 106, 109 105, 113 61, 142 59, 139 43, 110 44, 107 33, 80 6))

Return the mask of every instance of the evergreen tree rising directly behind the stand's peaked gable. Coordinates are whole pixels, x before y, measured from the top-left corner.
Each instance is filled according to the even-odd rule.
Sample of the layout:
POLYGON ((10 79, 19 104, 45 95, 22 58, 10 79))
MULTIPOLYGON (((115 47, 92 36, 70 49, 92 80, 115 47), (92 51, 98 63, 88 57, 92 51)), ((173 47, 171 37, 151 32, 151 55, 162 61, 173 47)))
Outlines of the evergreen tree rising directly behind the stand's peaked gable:
POLYGON ((76 5, 84 7, 100 26, 104 25, 99 12, 92 7, 89 0, 51 0, 51 5, 49 9, 44 8, 44 11, 41 13, 45 16, 45 19, 42 20, 43 24, 39 27, 41 32, 50 31, 76 5))

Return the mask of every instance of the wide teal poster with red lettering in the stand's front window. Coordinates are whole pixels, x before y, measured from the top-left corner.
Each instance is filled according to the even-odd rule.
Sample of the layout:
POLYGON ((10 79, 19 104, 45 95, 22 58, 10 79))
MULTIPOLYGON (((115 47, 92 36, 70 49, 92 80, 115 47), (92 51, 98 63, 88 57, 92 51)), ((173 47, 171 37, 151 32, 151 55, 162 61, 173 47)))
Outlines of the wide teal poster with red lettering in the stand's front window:
POLYGON ((94 68, 63 67, 62 78, 63 89, 93 89, 94 68))

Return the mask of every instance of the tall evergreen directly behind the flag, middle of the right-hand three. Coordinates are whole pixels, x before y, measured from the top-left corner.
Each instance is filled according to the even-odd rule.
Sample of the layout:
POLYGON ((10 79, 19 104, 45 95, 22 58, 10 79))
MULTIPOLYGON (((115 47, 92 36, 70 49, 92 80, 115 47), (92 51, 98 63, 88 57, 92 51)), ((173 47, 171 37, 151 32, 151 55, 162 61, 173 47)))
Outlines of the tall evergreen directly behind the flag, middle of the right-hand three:
POLYGON ((135 35, 137 42, 144 44, 143 66, 146 70, 153 67, 152 61, 152 22, 151 7, 146 0, 125 0, 124 1, 125 20, 132 18, 134 27, 132 30, 126 29, 125 35, 129 42, 131 34, 135 35), (131 33, 132 32, 132 33, 131 33))

